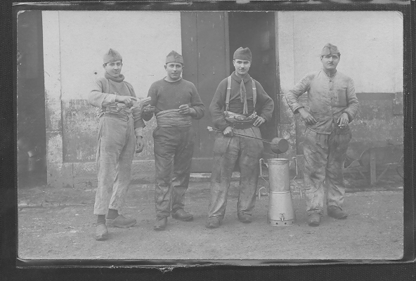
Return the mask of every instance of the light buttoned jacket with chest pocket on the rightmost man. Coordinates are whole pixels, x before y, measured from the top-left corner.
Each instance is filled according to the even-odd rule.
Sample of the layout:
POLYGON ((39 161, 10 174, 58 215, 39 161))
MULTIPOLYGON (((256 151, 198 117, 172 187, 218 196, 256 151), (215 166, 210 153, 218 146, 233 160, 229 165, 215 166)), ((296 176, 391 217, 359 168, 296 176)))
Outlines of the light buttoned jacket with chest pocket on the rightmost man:
POLYGON ((358 99, 353 80, 337 71, 328 77, 323 70, 306 74, 285 98, 294 113, 305 105, 299 103, 299 96, 308 92, 308 111, 316 119, 316 124, 306 125, 316 133, 330 134, 335 129, 337 119, 346 112, 351 122, 358 111, 358 99))

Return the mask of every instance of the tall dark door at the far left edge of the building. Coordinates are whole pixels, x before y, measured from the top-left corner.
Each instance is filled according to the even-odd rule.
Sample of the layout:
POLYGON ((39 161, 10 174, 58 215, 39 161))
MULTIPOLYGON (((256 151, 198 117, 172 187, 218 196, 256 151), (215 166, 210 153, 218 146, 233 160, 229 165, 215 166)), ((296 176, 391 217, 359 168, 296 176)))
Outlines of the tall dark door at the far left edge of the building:
POLYGON ((46 119, 41 11, 18 15, 18 184, 46 183, 46 119), (29 157, 31 156, 31 157, 29 157))

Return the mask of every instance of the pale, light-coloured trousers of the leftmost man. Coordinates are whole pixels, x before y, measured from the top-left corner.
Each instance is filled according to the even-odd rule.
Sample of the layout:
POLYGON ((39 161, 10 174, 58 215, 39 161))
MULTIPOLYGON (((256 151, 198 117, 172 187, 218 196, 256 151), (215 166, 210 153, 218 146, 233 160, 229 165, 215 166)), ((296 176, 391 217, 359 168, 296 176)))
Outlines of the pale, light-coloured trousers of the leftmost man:
POLYGON ((96 155, 98 188, 94 214, 104 215, 108 213, 108 208, 119 210, 123 206, 130 184, 135 148, 132 115, 100 117, 96 155))

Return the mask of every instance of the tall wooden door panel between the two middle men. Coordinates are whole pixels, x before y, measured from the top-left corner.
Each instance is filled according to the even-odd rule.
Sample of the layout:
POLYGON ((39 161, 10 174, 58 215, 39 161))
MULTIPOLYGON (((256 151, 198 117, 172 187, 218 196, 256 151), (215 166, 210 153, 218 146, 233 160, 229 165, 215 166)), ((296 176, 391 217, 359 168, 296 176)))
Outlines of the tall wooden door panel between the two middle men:
POLYGON ((193 122, 197 133, 191 170, 210 172, 214 134, 209 115, 211 103, 219 82, 227 77, 228 27, 226 12, 181 13, 183 78, 193 82, 205 105, 205 116, 193 122))

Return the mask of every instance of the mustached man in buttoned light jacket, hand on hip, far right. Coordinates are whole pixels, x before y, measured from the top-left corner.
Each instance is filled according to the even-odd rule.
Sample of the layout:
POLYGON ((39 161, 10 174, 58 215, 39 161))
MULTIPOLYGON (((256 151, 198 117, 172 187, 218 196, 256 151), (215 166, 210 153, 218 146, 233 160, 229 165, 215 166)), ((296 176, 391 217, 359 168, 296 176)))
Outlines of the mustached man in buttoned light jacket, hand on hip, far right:
POLYGON ((337 46, 326 44, 320 61, 323 68, 306 74, 285 94, 292 111, 306 123, 304 136, 304 185, 308 224, 318 226, 323 215, 324 183, 327 185, 327 214, 346 218, 342 165, 351 141, 349 123, 356 117, 358 99, 353 80, 337 71, 341 53, 337 46), (308 92, 308 104, 299 96, 308 92))

